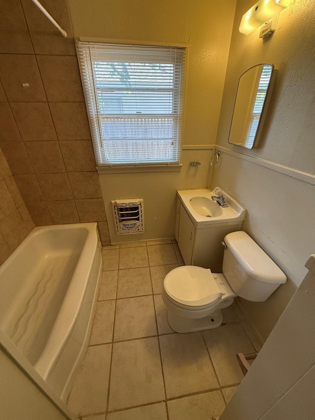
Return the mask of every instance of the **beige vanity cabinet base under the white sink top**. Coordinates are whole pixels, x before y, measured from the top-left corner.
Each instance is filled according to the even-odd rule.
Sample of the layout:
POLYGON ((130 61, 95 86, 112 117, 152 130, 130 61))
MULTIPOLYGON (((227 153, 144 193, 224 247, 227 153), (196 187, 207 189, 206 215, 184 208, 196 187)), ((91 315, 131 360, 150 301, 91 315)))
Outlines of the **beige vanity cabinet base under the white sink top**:
POLYGON ((223 251, 221 241, 227 233, 241 230, 243 222, 227 222, 196 226, 181 200, 177 199, 177 242, 186 265, 210 268, 222 272, 223 251))

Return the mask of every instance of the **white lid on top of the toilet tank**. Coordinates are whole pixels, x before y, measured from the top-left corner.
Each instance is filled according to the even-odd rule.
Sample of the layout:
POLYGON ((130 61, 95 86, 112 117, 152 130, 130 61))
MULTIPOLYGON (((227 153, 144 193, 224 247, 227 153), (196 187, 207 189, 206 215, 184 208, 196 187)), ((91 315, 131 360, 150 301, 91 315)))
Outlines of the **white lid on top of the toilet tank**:
POLYGON ((275 284, 286 282, 284 272, 246 232, 228 233, 224 242, 242 268, 253 279, 275 284))

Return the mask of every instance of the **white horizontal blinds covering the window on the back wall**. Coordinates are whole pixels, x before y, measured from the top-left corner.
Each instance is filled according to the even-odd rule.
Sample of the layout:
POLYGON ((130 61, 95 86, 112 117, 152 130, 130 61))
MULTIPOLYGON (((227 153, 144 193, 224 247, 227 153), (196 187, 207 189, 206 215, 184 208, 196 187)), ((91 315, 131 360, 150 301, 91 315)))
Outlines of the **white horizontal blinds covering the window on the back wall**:
POLYGON ((185 48, 77 43, 98 166, 178 164, 185 48))

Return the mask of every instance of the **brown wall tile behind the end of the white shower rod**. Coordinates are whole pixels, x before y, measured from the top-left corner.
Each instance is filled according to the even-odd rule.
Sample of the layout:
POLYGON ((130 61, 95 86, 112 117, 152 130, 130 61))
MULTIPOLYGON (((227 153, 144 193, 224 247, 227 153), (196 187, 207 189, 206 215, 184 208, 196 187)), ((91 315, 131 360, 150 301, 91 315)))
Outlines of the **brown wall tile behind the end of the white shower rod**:
POLYGON ((36 54, 75 55, 66 0, 41 0, 41 4, 67 32, 64 38, 32 1, 22 0, 36 54))

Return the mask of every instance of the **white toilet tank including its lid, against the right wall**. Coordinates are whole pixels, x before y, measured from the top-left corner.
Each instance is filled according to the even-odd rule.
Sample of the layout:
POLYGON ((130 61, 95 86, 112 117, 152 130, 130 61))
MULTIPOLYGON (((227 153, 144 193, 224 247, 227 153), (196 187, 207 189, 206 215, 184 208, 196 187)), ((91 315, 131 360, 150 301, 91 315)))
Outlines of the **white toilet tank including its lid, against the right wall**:
POLYGON ((238 296, 263 302, 286 282, 284 272, 246 232, 229 233, 224 242, 223 274, 238 296))

